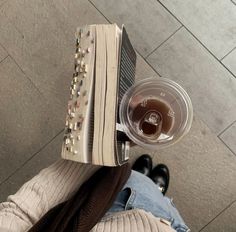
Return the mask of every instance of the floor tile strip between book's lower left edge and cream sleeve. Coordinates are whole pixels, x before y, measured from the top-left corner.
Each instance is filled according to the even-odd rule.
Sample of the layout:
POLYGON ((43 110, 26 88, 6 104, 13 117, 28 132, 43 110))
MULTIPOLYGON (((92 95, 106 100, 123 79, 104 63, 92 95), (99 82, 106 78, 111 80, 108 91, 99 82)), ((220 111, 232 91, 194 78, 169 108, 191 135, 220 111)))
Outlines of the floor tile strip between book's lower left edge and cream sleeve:
POLYGON ((60 158, 62 136, 62 133, 58 135, 5 183, 0 185, 0 202, 5 201, 7 196, 14 194, 26 181, 30 180, 41 169, 48 167, 60 158))

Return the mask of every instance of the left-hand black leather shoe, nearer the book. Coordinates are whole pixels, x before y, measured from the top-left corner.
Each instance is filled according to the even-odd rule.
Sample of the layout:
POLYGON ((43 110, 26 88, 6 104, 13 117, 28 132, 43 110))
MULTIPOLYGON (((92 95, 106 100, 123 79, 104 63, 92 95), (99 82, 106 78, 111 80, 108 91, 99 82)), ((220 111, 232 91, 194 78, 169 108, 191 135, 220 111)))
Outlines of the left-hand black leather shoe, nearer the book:
POLYGON ((152 157, 148 154, 141 155, 134 163, 133 170, 149 176, 152 170, 152 157))

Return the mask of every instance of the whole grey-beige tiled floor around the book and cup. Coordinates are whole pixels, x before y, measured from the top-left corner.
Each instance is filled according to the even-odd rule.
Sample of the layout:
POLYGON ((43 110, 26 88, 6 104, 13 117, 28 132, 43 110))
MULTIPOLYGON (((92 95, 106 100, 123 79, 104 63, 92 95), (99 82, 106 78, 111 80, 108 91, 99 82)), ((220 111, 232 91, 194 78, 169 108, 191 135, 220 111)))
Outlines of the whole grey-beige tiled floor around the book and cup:
MULTIPOLYGON (((151 152, 192 231, 236 231, 236 4, 227 0, 0 0, 0 201, 60 157, 76 26, 125 24, 137 79, 191 96, 193 126, 151 152)), ((132 150, 131 160, 147 152, 132 150)))

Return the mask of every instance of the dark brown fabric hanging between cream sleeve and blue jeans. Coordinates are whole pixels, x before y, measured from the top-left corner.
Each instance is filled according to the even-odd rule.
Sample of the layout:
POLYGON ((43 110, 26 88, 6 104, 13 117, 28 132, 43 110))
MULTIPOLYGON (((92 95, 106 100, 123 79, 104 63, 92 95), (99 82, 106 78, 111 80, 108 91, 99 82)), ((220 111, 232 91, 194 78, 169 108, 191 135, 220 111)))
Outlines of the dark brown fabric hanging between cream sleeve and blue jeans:
POLYGON ((128 163, 102 167, 71 199, 51 209, 29 232, 90 231, 112 206, 130 174, 128 163))

